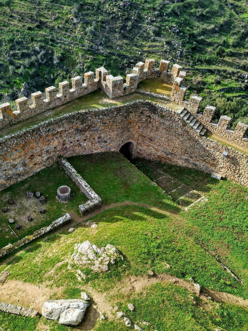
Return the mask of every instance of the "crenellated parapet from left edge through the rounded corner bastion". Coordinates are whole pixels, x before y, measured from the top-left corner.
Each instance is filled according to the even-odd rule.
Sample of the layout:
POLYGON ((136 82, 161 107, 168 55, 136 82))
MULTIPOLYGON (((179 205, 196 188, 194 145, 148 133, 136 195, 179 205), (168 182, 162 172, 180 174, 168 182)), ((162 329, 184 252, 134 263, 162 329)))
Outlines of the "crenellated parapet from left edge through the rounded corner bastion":
POLYGON ((169 71, 169 64, 169 61, 161 60, 159 69, 155 69, 155 60, 153 59, 145 60, 145 63, 139 62, 133 68, 133 73, 127 74, 126 83, 123 83, 122 76, 113 77, 108 74, 105 68, 100 67, 96 69, 96 78, 93 71, 86 72, 84 83, 81 76, 72 78, 72 88, 70 88, 68 81, 63 81, 59 83, 59 91, 55 86, 50 86, 45 89, 45 96, 40 91, 32 93, 31 105, 28 104, 26 97, 17 99, 16 111, 12 111, 11 105, 6 102, 0 105, 0 129, 61 106, 99 88, 109 98, 114 98, 135 92, 138 83, 148 78, 160 77, 173 84, 176 75, 179 75, 178 65, 174 65, 172 71, 169 71))

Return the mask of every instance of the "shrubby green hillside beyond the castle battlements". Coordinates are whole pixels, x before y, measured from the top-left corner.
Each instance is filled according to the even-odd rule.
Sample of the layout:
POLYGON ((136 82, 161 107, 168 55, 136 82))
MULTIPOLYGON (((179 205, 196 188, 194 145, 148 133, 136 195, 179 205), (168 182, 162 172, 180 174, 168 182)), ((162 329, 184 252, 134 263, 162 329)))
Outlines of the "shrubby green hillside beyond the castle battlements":
POLYGON ((0 99, 16 98, 25 81, 31 92, 43 90, 102 65, 125 76, 145 58, 191 68, 192 92, 245 94, 218 91, 247 85, 245 0, 0 3, 0 99))

